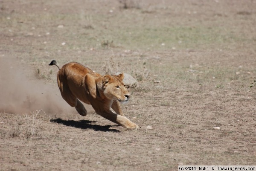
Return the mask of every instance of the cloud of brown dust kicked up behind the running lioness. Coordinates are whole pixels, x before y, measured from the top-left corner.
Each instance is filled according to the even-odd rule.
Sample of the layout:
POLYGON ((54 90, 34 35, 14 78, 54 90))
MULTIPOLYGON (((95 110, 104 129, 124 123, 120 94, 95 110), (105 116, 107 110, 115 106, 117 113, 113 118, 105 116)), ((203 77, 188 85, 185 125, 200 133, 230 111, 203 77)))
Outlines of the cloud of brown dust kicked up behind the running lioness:
POLYGON ((31 76, 32 72, 30 66, 22 67, 12 58, 0 57, 0 112, 43 110, 56 115, 74 113, 74 108, 62 99, 57 83, 54 88, 47 81, 31 76))

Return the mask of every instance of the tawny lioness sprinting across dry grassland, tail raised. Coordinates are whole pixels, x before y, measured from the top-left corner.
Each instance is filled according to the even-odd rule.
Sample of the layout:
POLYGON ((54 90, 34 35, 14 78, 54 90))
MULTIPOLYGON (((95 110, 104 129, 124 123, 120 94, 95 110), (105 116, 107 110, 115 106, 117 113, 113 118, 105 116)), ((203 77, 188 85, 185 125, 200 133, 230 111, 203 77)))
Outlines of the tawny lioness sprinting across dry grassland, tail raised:
POLYGON ((122 82, 123 73, 102 76, 76 62, 70 62, 60 68, 53 60, 49 65, 58 67, 57 80, 61 96, 70 106, 75 107, 81 116, 86 116, 87 111, 79 100, 91 104, 96 113, 112 122, 128 129, 139 128, 124 116, 120 107, 119 102, 128 101, 130 98, 122 82))

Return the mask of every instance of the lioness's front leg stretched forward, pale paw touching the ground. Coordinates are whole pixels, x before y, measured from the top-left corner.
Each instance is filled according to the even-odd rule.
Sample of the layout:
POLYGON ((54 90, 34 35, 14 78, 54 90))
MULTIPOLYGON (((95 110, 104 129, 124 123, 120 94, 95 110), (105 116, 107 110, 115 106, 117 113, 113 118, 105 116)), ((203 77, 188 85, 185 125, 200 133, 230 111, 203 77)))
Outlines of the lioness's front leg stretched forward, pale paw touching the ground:
POLYGON ((116 113, 111 112, 110 110, 106 113, 104 112, 104 113, 98 113, 98 114, 116 124, 122 125, 123 127, 127 128, 127 129, 139 129, 140 128, 138 125, 131 122, 125 116, 118 115, 116 113))

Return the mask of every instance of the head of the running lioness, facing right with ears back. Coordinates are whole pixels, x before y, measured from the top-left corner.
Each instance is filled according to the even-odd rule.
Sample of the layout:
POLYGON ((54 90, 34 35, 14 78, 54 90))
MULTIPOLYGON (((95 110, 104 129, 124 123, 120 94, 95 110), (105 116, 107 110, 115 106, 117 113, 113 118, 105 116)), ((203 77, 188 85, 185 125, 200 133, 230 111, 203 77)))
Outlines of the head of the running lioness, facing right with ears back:
POLYGON ((117 101, 128 101, 130 93, 126 90, 124 83, 122 82, 124 74, 119 75, 104 75, 103 76, 103 88, 104 95, 108 99, 117 101))

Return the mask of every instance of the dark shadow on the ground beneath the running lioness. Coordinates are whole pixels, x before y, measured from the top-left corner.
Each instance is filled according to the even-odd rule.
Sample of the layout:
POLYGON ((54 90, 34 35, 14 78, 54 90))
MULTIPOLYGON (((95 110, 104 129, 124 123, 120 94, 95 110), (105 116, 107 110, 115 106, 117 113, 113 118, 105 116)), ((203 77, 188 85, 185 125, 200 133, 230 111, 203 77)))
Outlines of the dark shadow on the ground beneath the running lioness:
POLYGON ((58 124, 63 124, 69 127, 75 127, 75 128, 81 128, 81 129, 93 129, 96 131, 104 131, 104 132, 120 132, 116 129, 109 129, 112 127, 112 125, 94 125, 91 123, 95 123, 96 121, 88 121, 88 120, 80 120, 80 121, 74 121, 74 120, 63 120, 63 119, 51 119, 50 122, 55 122, 58 124))

